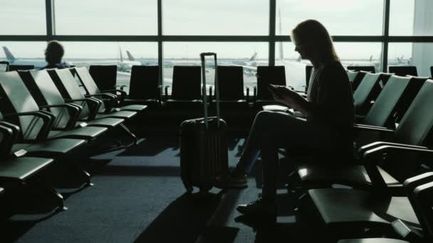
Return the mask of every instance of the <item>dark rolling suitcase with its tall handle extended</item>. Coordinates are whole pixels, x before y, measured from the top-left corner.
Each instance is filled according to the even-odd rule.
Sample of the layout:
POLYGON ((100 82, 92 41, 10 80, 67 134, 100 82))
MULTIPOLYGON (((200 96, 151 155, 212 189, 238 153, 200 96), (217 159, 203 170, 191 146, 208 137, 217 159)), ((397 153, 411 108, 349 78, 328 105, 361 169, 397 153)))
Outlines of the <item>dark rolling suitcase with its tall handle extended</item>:
POLYGON ((204 117, 183 121, 180 125, 180 173, 187 193, 196 186, 201 192, 212 188, 212 181, 225 177, 229 170, 227 124, 219 115, 219 89, 216 53, 201 53, 204 117), (215 63, 216 117, 208 117, 204 58, 215 63))

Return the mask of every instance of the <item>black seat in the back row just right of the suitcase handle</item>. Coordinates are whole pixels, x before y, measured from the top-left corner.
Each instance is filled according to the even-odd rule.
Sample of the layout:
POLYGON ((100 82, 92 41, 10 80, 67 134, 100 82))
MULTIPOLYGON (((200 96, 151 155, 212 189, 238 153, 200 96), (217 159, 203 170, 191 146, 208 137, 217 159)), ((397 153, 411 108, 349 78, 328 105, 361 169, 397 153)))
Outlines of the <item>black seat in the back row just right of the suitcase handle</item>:
MULTIPOLYGON (((239 112, 248 109, 249 88, 244 94, 244 70, 238 66, 218 66, 219 100, 221 109, 236 109, 239 112)), ((215 108, 215 94, 209 88, 211 107, 215 108)), ((224 110, 221 110, 224 112, 224 110)))

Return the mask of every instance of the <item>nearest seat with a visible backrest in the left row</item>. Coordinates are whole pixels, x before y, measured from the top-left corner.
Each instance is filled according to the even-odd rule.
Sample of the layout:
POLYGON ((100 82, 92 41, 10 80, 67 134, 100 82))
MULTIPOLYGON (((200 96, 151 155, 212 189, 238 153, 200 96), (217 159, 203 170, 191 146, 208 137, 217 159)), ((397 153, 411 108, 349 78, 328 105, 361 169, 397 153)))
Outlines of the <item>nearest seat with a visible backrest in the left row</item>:
MULTIPOLYGON (((38 104, 31 96, 18 72, 0 73, 1 96, 4 100, 2 109, 9 113, 9 119, 13 119, 15 124, 20 124, 23 138, 25 140, 41 141, 43 139, 95 139, 103 134, 107 129, 103 127, 86 126, 79 129, 51 130, 46 129, 47 134, 40 134, 38 131, 43 126, 53 127, 53 122, 49 124, 48 119, 55 120, 56 117, 49 113, 39 110, 38 104), (25 100, 26 102, 23 102, 25 100), (30 114, 26 116, 26 114, 30 114)), ((68 109, 78 111, 76 106, 68 106, 68 109)), ((8 117, 5 118, 8 119, 8 117)))

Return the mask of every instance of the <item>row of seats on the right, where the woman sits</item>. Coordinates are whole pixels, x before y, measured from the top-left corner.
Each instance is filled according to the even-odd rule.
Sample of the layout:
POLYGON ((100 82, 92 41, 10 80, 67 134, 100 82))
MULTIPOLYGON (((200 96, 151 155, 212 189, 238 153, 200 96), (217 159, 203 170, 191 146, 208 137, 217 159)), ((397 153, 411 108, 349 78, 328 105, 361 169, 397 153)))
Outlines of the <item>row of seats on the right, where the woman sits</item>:
POLYGON ((423 172, 433 166, 433 80, 363 71, 355 77, 360 78, 355 106, 362 115, 353 126, 353 158, 337 153, 300 163, 289 188, 305 193, 301 208, 331 237, 430 242, 433 173, 423 172), (328 188, 335 184, 350 188, 328 188))

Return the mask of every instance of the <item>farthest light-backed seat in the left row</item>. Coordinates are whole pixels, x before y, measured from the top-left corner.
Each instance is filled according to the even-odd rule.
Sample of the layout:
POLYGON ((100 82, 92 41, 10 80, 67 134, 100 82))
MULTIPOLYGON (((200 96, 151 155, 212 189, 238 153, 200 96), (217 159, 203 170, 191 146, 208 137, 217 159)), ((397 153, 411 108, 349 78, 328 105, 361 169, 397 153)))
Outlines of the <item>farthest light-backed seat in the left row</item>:
MULTIPOLYGON (((78 75, 78 78, 87 92, 87 97, 111 97, 111 99, 114 99, 116 102, 122 102, 127 95, 123 90, 99 90, 92 76, 90 76, 87 68, 71 68, 70 70, 71 72, 75 72, 75 74, 78 75), (120 92, 120 95, 113 95, 109 92, 120 92)), ((118 107, 116 104, 115 108, 121 111, 141 112, 142 110, 146 109, 146 106, 143 104, 130 104, 127 106, 118 107)))

